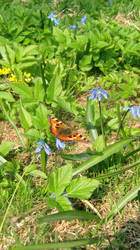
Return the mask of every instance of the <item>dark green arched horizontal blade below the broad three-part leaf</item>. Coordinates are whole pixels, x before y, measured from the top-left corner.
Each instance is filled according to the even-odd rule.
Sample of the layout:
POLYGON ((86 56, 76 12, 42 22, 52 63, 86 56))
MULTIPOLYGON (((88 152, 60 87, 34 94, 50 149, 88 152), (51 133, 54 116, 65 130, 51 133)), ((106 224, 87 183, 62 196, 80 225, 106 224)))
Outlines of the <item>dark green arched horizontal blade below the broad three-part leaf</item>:
POLYGON ((85 211, 75 210, 75 211, 64 211, 64 212, 60 212, 57 214, 51 214, 51 215, 44 216, 44 217, 38 219, 38 223, 44 224, 44 223, 52 223, 53 221, 56 221, 56 220, 71 221, 71 220, 76 220, 76 219, 77 220, 96 220, 96 221, 99 221, 99 218, 95 214, 87 213, 85 211))

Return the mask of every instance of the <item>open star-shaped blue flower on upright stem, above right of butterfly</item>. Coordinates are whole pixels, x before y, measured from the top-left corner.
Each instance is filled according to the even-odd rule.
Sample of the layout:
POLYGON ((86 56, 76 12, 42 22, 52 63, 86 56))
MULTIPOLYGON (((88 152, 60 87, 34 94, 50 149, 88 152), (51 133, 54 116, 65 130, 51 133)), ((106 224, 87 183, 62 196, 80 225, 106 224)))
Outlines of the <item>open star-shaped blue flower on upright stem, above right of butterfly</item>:
POLYGON ((93 90, 89 90, 87 93, 91 93, 89 100, 93 99, 93 101, 96 99, 98 99, 99 101, 102 101, 102 97, 104 97, 105 99, 108 98, 107 91, 101 89, 100 87, 93 88, 93 90))

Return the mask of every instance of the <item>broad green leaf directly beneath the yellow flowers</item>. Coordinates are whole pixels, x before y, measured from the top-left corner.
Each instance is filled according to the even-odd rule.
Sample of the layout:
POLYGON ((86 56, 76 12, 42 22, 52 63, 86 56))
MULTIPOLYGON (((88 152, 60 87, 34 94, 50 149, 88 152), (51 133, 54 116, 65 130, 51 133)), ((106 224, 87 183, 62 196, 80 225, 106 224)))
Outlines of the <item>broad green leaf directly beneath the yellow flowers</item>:
POLYGON ((26 83, 11 83, 10 86, 16 94, 20 95, 23 98, 33 100, 33 89, 26 83))

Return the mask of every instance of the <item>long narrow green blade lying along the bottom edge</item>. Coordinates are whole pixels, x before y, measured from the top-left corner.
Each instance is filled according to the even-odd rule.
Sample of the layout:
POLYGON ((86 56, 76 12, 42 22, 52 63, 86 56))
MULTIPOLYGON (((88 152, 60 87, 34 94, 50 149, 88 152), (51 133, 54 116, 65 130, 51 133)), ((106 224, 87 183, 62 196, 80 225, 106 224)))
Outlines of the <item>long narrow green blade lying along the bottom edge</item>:
POLYGON ((88 240, 69 240, 63 242, 52 242, 44 245, 32 245, 32 246, 18 246, 13 248, 13 250, 46 250, 46 249, 80 249, 81 246, 86 246, 90 244, 97 244, 97 238, 88 240))

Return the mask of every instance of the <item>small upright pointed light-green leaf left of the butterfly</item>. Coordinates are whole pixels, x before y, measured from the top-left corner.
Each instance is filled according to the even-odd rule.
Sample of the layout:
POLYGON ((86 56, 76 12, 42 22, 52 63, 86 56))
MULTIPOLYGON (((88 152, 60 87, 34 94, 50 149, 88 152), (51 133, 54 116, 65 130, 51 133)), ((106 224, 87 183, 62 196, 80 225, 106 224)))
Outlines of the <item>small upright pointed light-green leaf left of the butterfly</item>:
POLYGON ((32 126, 32 120, 30 113, 22 105, 20 106, 19 118, 22 127, 27 131, 32 126))

